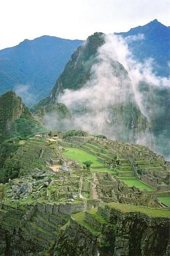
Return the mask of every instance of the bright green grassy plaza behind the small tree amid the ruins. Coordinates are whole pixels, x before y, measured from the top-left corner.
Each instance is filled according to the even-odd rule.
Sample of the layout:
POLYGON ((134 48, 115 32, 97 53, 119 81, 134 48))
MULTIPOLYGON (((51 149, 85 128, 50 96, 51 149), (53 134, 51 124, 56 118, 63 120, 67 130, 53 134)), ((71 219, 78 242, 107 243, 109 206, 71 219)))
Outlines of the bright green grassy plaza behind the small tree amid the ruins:
POLYGON ((79 162, 79 164, 81 166, 83 166, 84 161, 91 160, 93 162, 91 167, 99 166, 99 168, 95 168, 95 169, 91 168, 91 172, 109 172, 109 173, 113 173, 113 171, 110 170, 107 167, 100 168, 103 164, 98 161, 98 158, 96 156, 93 156, 93 155, 81 150, 80 148, 65 147, 65 151, 62 153, 62 155, 65 156, 67 159, 73 159, 73 160, 79 162))

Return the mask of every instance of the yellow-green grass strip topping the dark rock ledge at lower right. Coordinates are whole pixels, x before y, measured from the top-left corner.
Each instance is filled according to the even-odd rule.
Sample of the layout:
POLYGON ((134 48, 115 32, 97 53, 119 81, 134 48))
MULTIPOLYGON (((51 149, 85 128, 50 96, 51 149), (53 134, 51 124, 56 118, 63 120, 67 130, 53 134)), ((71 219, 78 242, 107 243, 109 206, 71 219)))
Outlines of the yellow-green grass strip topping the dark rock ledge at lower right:
POLYGON ((170 211, 166 209, 150 208, 146 206, 135 206, 135 205, 129 205, 129 204, 119 204, 119 203, 113 203, 113 202, 106 204, 106 207, 114 208, 124 213, 141 212, 142 214, 146 214, 152 218, 156 218, 156 217, 170 218, 170 211))

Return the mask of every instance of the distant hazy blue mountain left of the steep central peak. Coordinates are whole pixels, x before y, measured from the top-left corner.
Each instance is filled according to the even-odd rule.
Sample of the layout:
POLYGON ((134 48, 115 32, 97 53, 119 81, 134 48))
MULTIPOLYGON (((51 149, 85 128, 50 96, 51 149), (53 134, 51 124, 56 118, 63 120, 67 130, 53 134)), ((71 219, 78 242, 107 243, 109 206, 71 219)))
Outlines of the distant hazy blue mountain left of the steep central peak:
POLYGON ((82 40, 41 36, 0 51, 0 94, 15 90, 27 105, 47 96, 82 40))

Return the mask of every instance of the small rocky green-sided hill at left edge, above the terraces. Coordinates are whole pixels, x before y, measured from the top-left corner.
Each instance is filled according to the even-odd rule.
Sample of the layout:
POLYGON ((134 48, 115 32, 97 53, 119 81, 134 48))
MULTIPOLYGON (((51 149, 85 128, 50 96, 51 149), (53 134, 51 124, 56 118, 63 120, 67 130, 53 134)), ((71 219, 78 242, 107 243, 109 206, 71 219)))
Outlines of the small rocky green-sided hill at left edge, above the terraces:
POLYGON ((12 136, 26 137, 41 130, 29 109, 14 91, 0 97, 0 140, 12 136))

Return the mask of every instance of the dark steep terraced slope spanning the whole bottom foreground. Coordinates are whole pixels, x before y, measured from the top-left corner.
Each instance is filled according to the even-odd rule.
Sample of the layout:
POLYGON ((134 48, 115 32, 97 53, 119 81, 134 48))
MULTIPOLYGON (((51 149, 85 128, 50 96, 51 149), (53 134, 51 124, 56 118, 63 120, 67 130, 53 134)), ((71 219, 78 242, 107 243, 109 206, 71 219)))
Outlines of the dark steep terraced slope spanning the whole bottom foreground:
POLYGON ((70 217, 69 206, 1 203, 0 254, 169 255, 168 209, 112 202, 70 217))

